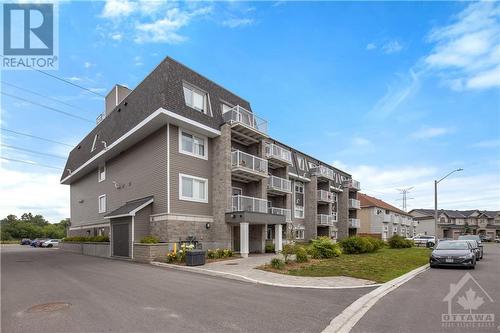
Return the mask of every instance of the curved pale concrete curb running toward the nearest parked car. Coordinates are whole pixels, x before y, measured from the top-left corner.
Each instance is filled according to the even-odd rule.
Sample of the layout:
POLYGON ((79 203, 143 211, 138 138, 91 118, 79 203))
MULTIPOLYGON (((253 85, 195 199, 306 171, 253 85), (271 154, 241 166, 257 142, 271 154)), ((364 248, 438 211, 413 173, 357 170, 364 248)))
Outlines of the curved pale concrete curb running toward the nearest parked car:
POLYGON ((399 288, 404 283, 410 281, 418 274, 429 269, 429 264, 418 267, 400 277, 382 284, 375 290, 358 298, 351 305, 342 311, 337 317, 333 318, 330 324, 322 333, 347 333, 356 325, 356 323, 365 315, 379 299, 399 288))

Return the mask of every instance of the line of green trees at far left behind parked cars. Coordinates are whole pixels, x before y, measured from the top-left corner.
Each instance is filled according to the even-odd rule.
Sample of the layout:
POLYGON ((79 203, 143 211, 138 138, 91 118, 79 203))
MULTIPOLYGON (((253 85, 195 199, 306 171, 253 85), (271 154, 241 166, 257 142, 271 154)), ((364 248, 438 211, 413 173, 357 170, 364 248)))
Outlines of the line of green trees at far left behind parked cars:
POLYGON ((61 220, 59 223, 49 223, 42 215, 24 213, 18 218, 10 214, 0 220, 1 240, 63 238, 69 225, 69 219, 61 220))

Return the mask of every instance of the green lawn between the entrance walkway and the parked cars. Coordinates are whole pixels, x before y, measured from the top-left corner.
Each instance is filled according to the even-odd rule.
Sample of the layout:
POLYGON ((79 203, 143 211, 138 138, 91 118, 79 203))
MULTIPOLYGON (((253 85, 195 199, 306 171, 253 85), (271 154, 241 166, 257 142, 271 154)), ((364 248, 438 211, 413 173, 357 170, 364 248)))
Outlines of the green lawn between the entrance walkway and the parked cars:
POLYGON ((375 253, 343 254, 333 259, 294 264, 282 273, 295 276, 351 276, 387 282, 428 263, 430 252, 429 249, 417 247, 383 248, 375 253))

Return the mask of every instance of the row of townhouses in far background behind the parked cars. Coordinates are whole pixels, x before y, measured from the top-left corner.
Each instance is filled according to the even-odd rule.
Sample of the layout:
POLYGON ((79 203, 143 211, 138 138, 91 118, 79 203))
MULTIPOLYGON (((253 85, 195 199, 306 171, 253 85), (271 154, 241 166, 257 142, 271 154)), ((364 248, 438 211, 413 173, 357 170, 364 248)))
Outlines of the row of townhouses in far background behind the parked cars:
MULTIPOLYGON (((413 209, 409 212, 418 221, 417 233, 434 235, 434 209, 413 209)), ((438 211, 438 238, 457 239, 465 233, 500 236, 500 211, 447 210, 438 211)))

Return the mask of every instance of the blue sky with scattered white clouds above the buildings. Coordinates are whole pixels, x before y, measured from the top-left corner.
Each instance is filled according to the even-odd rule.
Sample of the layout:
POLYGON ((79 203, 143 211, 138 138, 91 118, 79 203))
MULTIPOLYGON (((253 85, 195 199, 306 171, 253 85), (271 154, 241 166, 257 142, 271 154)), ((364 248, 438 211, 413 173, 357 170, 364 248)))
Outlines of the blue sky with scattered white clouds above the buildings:
POLYGON ((59 69, 50 73, 96 94, 2 71, 0 217, 69 217, 59 179, 104 110, 97 94, 134 88, 167 55, 250 101, 272 137, 349 172, 366 194, 401 207, 398 189, 411 187, 408 210, 433 208, 434 180, 463 168, 439 183, 439 208, 500 210, 500 3, 57 8, 59 69))

